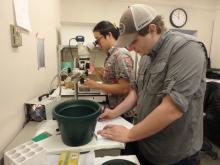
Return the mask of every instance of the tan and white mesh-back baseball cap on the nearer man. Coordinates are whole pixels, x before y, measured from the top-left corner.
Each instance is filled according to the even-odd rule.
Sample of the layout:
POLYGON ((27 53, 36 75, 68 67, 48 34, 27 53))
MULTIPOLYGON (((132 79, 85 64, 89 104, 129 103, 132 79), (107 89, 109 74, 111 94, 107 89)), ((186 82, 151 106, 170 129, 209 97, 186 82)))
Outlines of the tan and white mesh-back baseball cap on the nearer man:
POLYGON ((137 32, 152 22, 156 16, 155 9, 148 5, 135 4, 129 6, 120 19, 120 36, 116 46, 128 46, 137 36, 137 32))

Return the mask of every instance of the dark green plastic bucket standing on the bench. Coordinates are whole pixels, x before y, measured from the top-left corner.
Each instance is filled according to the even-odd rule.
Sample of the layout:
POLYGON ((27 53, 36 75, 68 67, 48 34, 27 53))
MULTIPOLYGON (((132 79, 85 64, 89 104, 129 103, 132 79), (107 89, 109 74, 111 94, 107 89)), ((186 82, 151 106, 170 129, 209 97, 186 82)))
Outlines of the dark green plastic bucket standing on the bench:
POLYGON ((80 146, 89 143, 94 135, 101 106, 90 100, 62 102, 53 110, 64 144, 80 146))

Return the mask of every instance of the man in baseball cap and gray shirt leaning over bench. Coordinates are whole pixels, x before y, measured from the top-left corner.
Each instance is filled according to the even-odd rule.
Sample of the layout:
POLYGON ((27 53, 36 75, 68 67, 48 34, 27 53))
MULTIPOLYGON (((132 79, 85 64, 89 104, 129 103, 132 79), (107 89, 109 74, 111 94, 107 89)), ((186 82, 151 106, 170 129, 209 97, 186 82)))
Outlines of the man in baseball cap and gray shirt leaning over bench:
POLYGON ((135 108, 131 129, 107 125, 98 133, 127 143, 143 165, 198 165, 203 142, 206 49, 192 36, 167 31, 150 6, 131 5, 120 19, 116 45, 140 56, 138 78, 126 99, 100 119, 135 108))

